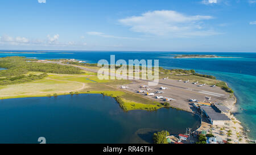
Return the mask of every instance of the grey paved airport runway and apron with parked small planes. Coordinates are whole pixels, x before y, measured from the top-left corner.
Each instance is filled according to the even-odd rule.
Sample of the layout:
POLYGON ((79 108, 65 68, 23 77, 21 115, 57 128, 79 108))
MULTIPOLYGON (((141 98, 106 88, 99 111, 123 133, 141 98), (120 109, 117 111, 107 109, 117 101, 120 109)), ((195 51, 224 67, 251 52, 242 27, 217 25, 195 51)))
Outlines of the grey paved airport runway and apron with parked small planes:
MULTIPOLYGON (((61 62, 55 62, 55 61, 44 61, 44 62, 51 62, 55 64, 60 64, 60 65, 68 65, 68 64, 63 64, 61 62)), ((82 70, 88 71, 88 72, 93 72, 97 73, 98 70, 96 69, 90 69, 90 68, 84 68, 82 66, 76 66, 72 65, 77 68, 80 68, 82 70)), ((114 73, 109 73, 110 76, 115 76, 114 73)), ((117 77, 123 78, 124 76, 119 75, 117 77)), ((129 78, 129 77, 128 77, 129 78)), ((125 89, 127 91, 131 91, 133 93, 137 93, 138 90, 145 90, 146 88, 141 88, 141 85, 148 85, 148 80, 144 79, 133 79, 133 82, 128 86, 129 88, 125 89)), ((210 101, 213 103, 223 103, 224 100, 229 99, 229 93, 226 93, 224 90, 222 90, 220 87, 210 87, 209 85, 199 87, 199 84, 193 85, 192 82, 185 83, 183 81, 179 82, 174 79, 159 79, 158 85, 156 86, 151 86, 150 91, 147 91, 148 93, 155 93, 155 95, 148 96, 144 95, 144 97, 156 100, 158 102, 164 102, 162 99, 156 99, 156 95, 158 96, 163 96, 167 98, 173 98, 176 100, 172 100, 170 102, 172 107, 175 108, 180 108, 182 110, 186 111, 192 111, 191 110, 191 105, 188 102, 188 99, 197 99, 200 102, 207 101, 205 100, 205 97, 211 97, 210 101), (160 90, 160 87, 167 87, 167 90, 160 90), (156 91, 164 91, 163 94, 156 94, 156 91)))

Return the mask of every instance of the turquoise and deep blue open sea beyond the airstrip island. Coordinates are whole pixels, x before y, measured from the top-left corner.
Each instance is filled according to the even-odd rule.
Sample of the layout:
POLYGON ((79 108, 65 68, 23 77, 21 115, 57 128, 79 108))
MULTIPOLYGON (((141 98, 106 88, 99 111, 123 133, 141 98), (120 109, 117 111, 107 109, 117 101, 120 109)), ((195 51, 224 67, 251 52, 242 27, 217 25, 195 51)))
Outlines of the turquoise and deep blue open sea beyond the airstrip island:
POLYGON ((256 53, 222 53, 222 52, 104 52, 104 51, 1 51, 33 52, 0 53, 5 56, 26 56, 38 59, 76 58, 97 63, 98 60, 145 59, 159 60, 164 68, 195 69, 198 73, 210 74, 228 83, 237 97, 237 111, 234 113, 242 125, 250 128, 250 138, 256 139, 256 53), (41 52, 41 53, 34 53, 41 52), (173 55, 218 55, 233 58, 174 58, 173 55), (244 109, 244 110, 241 110, 244 109))

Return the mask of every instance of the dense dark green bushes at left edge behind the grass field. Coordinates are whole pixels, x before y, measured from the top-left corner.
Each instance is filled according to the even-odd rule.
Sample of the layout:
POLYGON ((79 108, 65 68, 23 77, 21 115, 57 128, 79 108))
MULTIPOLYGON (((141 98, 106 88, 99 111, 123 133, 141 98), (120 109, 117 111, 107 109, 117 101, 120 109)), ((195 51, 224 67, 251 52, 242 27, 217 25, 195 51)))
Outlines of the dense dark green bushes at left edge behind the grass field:
POLYGON ((59 74, 82 74, 81 69, 73 66, 63 66, 59 64, 45 64, 36 62, 38 60, 25 57, 1 57, 0 85, 11 85, 15 83, 31 82, 46 78, 46 73, 59 74), (28 74, 28 72, 41 72, 42 74, 28 74), (28 74, 27 76, 25 74, 28 74))

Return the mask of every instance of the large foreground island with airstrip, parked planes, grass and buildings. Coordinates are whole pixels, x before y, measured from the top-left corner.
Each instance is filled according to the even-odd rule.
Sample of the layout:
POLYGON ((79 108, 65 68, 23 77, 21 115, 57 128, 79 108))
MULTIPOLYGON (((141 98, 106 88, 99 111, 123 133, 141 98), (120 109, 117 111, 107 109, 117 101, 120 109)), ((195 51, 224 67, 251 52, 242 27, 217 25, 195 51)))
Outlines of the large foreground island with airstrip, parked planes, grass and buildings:
MULTIPOLYGON (((0 99, 102 94, 115 99, 124 112, 175 108, 194 114, 201 114, 198 113, 200 107, 213 107, 215 103, 222 103, 218 105, 232 110, 236 103, 233 90, 226 82, 214 76, 196 73, 193 69, 160 67, 160 85, 149 88, 146 86, 148 81, 138 79, 99 79, 97 73, 100 68, 97 64, 85 63, 73 58, 37 60, 19 56, 1 57, 0 68, 5 68, 0 71, 0 99), (195 99, 197 101, 193 101, 195 99)), ((228 121, 229 128, 209 122, 207 115, 204 115, 205 122, 201 122, 201 127, 197 131, 208 130, 210 134, 208 137, 213 136, 211 134, 214 133, 214 136, 220 136, 229 143, 236 143, 235 139, 240 143, 247 143, 246 136, 240 134, 243 132, 241 123, 229 110, 226 110, 225 114, 214 113, 214 116, 225 115, 225 120, 220 121, 222 124, 228 121)), ((167 143, 167 139, 163 139, 167 133, 166 131, 156 133, 154 142, 167 143)), ((171 139, 170 136, 169 140, 171 139)), ((195 141, 205 144, 206 137, 203 135, 195 141)))

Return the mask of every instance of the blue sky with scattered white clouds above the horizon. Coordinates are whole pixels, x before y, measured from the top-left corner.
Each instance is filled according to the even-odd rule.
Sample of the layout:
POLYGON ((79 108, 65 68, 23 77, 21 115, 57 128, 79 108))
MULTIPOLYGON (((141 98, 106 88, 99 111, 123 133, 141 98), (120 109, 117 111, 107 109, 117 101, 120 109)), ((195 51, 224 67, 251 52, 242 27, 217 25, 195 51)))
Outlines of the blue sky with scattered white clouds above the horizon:
POLYGON ((256 0, 8 0, 0 49, 256 52, 256 0))

